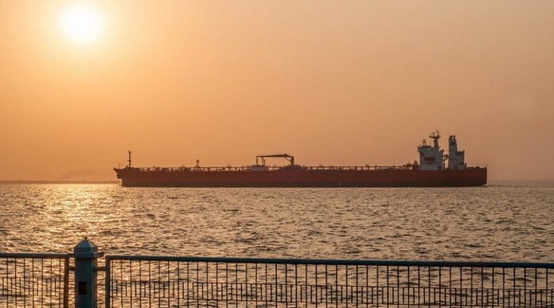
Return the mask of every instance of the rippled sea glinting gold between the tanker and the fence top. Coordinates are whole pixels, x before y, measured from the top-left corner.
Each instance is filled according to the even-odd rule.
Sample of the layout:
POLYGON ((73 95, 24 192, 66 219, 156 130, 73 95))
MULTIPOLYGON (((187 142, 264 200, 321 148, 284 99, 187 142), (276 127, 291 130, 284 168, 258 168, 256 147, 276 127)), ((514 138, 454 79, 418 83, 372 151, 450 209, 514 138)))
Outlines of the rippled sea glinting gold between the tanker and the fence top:
POLYGON ((1 184, 0 251, 554 261, 554 185, 122 188, 1 184))

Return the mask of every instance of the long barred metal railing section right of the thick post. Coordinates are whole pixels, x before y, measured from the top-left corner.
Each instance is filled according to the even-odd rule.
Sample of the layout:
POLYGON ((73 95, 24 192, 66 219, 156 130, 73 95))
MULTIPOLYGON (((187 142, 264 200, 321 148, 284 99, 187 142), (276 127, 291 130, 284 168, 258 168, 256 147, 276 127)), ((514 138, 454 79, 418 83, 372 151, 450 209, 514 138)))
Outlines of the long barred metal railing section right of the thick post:
POLYGON ((109 255, 106 307, 554 307, 551 263, 109 255))

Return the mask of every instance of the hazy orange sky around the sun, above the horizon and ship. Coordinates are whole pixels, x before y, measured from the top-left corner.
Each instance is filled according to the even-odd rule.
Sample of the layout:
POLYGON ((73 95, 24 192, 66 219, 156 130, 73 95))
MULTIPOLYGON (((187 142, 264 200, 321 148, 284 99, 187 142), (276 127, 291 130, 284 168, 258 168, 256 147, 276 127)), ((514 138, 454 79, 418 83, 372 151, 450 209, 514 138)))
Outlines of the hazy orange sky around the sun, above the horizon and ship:
POLYGON ((0 179, 115 179, 129 149, 400 165, 436 129, 490 180, 554 179, 554 1, 77 4, 0 0, 0 179))

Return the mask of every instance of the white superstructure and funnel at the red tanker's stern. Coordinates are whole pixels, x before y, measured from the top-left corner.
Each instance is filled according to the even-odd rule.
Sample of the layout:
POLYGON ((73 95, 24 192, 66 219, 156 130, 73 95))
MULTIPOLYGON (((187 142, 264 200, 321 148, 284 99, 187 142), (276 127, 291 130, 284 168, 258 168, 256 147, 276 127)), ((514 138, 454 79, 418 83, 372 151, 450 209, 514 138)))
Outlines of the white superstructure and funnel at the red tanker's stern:
POLYGON ((438 131, 431 133, 429 138, 433 139, 433 145, 427 145, 425 139, 418 147, 420 154, 420 170, 444 170, 445 160, 448 159, 449 170, 464 170, 465 164, 465 151, 458 151, 458 142, 456 136, 449 136, 448 138, 448 155, 444 154, 444 150, 440 149, 438 145, 438 139, 440 134, 438 131))

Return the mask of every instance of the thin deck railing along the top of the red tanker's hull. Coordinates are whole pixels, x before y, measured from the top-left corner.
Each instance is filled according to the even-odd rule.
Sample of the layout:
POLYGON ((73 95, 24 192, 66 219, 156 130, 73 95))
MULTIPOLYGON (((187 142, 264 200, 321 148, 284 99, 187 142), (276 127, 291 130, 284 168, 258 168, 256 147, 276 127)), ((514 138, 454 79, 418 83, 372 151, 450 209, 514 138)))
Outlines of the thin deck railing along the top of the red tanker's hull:
MULTIPOLYGON (((267 171, 279 171, 287 170, 289 166, 265 166, 267 171)), ((411 165, 392 165, 392 166, 382 166, 382 165, 319 165, 319 166, 301 166, 301 170, 311 170, 311 171, 369 171, 369 170, 411 170, 411 165)), ((214 172, 214 171, 253 171, 251 166, 240 166, 240 167, 133 167, 134 170, 139 170, 143 172, 214 172)))

